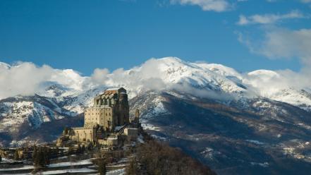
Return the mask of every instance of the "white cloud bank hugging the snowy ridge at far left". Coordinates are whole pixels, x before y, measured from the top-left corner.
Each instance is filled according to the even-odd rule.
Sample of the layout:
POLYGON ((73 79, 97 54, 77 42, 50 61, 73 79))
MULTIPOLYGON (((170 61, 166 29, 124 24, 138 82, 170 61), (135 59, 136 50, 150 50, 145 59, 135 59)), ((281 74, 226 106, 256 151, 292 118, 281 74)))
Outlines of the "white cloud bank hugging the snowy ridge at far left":
POLYGON ((75 92, 89 87, 87 77, 72 69, 59 70, 50 66, 36 66, 29 62, 8 65, 0 62, 0 99, 16 95, 45 92, 47 85, 58 83, 75 92))

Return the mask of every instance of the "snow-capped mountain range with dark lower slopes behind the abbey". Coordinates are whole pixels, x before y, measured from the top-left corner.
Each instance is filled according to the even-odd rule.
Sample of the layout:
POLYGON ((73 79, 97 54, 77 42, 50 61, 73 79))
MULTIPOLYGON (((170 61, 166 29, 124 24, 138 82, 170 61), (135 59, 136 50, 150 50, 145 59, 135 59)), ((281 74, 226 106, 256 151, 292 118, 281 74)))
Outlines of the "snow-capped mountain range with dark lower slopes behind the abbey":
POLYGON ((36 95, 0 99, 1 145, 55 140, 63 127, 83 126, 80 114, 93 97, 107 87, 125 87, 130 116, 139 109, 145 130, 219 174, 310 169, 311 90, 261 85, 281 77, 277 72, 241 74, 219 64, 164 58, 109 73, 102 84, 72 70, 59 74, 71 85, 47 80, 36 95))

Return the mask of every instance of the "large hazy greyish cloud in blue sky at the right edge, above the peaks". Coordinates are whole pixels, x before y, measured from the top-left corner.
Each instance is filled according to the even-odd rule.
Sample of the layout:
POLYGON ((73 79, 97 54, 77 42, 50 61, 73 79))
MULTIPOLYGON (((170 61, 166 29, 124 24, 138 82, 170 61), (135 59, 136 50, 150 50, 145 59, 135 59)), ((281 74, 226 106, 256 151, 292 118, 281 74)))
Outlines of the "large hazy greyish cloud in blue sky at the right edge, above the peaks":
POLYGON ((270 59, 300 58, 304 64, 311 63, 311 29, 269 28, 260 42, 250 40, 242 33, 238 33, 238 40, 251 52, 270 59))

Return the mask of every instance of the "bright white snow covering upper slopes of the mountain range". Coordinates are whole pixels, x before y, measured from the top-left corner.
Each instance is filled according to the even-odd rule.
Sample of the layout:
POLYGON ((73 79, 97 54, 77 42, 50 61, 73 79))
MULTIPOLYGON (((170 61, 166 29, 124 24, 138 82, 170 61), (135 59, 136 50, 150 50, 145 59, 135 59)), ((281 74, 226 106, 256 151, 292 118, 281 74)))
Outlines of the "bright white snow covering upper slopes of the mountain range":
MULTIPOLYGON (((4 63, 0 66, 11 67, 4 63)), ((311 90, 282 85, 283 82, 278 81, 281 75, 275 71, 243 74, 221 64, 190 63, 166 57, 150 59, 129 70, 100 74, 99 80, 94 80, 94 76, 81 76, 71 69, 54 69, 53 73, 51 78, 40 83, 41 90, 37 92, 46 97, 51 106, 31 100, 4 103, 6 109, 1 110, 1 126, 28 120, 38 127, 42 122, 61 119, 63 115, 75 116, 91 106, 92 98, 106 87, 125 87, 130 99, 149 90, 178 90, 198 97, 213 93, 214 96, 205 97, 216 97, 219 93, 231 95, 235 97, 233 99, 266 97, 311 110, 311 90)), ((161 102, 157 104, 161 109, 158 111, 165 110, 161 108, 161 102)))

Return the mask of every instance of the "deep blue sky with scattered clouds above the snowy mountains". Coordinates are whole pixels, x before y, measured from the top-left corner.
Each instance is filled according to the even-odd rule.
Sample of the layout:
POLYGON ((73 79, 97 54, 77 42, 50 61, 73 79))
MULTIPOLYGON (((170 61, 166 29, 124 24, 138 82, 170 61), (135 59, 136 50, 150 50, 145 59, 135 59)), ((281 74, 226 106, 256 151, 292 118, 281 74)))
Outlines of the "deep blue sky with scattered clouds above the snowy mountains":
POLYGON ((1 0, 0 61, 83 75, 164 56, 299 71, 310 59, 310 12, 308 0, 1 0))

